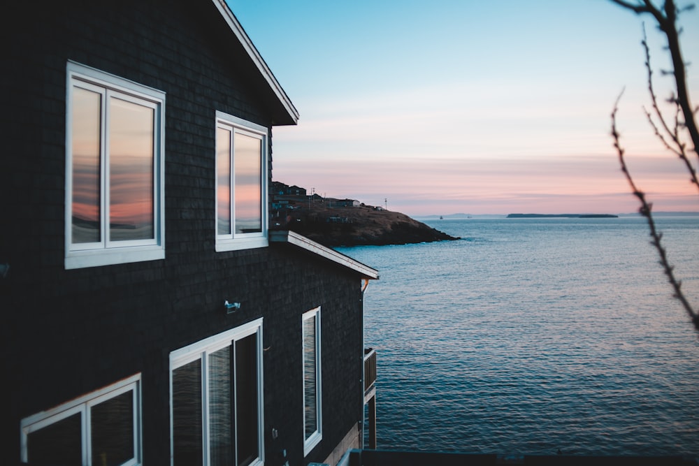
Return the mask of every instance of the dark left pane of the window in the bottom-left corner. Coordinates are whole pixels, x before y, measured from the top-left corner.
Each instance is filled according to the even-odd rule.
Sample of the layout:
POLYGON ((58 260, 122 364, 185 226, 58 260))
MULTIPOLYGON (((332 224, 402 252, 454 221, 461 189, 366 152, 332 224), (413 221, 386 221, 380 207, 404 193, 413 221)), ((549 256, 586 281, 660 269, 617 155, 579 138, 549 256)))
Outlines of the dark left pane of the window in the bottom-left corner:
POLYGON ((82 466, 80 413, 27 435, 27 459, 37 465, 82 466))

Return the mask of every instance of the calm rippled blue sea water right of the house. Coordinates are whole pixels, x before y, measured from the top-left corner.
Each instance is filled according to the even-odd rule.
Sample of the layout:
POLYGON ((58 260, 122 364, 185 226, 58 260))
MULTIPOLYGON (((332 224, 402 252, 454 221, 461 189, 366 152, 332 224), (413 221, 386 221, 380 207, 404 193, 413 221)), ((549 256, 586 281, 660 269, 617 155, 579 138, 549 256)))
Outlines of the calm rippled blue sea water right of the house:
MULTIPOLYGON (((699 217, 658 220, 699 305, 699 217)), ((382 449, 699 456, 699 333, 640 218, 463 219, 453 242, 347 247, 382 449)))

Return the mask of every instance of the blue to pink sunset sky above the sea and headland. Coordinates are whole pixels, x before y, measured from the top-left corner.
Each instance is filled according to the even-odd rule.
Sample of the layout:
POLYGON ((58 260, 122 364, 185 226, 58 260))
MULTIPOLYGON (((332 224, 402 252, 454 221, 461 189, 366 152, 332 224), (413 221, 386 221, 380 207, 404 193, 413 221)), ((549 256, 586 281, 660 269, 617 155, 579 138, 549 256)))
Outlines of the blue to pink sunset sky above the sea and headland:
MULTIPOLYGON (((637 185, 656 211, 699 210, 643 112, 643 23, 658 98, 672 85, 651 17, 608 0, 227 1, 301 115, 273 129, 275 181, 416 217, 636 212, 610 136, 623 90, 637 185)), ((696 106, 699 8, 680 24, 696 106)))

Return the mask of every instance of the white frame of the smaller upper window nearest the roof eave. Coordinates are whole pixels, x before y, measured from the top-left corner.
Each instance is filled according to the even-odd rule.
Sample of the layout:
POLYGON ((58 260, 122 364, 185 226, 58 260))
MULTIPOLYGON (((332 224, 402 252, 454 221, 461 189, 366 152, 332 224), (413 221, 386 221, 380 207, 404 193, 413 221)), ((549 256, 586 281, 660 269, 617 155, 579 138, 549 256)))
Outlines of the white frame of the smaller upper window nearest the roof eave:
MULTIPOLYGON (((215 224, 214 231, 216 235, 216 252, 236 251, 238 249, 252 249, 256 247, 267 247, 268 229, 269 229, 269 205, 268 205, 268 141, 269 131, 265 126, 248 122, 245 119, 229 115, 225 112, 216 111, 216 129, 225 128, 232 133, 242 133, 246 136, 252 136, 261 140, 261 206, 260 213, 262 216, 261 231, 259 233, 236 233, 235 228, 235 185, 233 179, 235 177, 235 157, 231 154, 231 234, 218 234, 218 196, 215 196, 215 224)), ((217 131, 218 132, 218 131, 217 131)), ((233 149, 234 150, 234 149, 233 149)), ((216 164, 217 166, 217 164, 216 164)), ((215 185, 218 188, 218 166, 216 168, 215 185)))

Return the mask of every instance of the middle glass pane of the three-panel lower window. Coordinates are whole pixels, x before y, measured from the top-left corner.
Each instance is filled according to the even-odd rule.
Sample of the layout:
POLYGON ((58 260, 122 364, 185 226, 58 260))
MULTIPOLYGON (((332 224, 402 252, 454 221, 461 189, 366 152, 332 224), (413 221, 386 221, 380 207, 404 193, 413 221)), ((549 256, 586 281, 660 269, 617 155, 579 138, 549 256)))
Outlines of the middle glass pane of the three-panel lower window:
POLYGON ((211 464, 233 464, 233 403, 231 347, 209 356, 209 416, 211 464))

